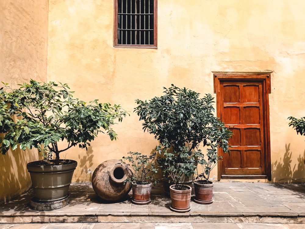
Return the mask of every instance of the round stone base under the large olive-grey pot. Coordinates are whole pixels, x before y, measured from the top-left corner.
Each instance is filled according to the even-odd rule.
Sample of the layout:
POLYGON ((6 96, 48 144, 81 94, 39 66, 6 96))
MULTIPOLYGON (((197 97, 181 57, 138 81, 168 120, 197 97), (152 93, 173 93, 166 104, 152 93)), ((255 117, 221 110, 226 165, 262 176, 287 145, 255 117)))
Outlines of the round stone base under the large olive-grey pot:
POLYGON ((36 200, 36 198, 34 197, 31 199, 30 205, 35 210, 48 211, 48 210, 55 210, 62 208, 68 205, 69 202, 70 202, 70 195, 68 194, 65 198, 55 201, 39 201, 36 200))

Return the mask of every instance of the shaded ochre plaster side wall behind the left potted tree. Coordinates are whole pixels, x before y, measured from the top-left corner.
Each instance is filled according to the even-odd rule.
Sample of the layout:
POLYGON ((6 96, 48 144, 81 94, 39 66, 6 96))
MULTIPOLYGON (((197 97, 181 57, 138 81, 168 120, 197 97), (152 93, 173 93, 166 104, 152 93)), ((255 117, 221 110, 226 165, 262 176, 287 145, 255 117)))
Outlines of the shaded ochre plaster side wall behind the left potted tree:
MULTIPOLYGON (((48 1, 0 1, 0 12, 0 81, 13 87, 30 78, 45 81, 48 1)), ((0 203, 30 187, 26 166, 37 159, 37 151, 0 155, 0 203)))

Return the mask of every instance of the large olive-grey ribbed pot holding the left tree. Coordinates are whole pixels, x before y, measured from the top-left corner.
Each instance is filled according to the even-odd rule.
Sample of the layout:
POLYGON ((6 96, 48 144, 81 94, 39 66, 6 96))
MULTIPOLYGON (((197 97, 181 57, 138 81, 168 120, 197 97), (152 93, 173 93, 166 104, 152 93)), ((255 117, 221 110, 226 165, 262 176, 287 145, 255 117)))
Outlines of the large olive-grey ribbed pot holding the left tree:
POLYGON ((32 180, 35 201, 50 202, 61 200, 68 196, 68 190, 77 162, 61 160, 61 162, 63 161, 69 161, 69 164, 41 165, 42 161, 27 164, 27 169, 32 180))

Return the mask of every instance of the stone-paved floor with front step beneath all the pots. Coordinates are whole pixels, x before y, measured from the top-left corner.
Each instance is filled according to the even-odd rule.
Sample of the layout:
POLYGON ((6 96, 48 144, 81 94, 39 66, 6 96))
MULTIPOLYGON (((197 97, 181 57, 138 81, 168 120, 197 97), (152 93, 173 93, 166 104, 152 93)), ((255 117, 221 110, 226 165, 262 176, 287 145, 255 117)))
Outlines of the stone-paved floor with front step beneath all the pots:
POLYGON ((131 192, 123 202, 101 200, 90 182, 72 183, 70 204, 52 211, 29 207, 29 190, 0 205, 0 228, 305 228, 305 184, 217 182, 214 202, 191 201, 187 213, 169 209, 170 198, 163 187, 152 188, 148 205, 131 203, 131 192))

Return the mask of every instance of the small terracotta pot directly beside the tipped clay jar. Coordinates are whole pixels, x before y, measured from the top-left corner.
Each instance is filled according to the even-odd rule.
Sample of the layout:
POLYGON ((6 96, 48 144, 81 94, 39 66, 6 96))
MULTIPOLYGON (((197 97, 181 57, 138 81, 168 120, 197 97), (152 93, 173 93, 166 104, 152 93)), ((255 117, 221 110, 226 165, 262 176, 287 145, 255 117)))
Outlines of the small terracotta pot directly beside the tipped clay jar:
POLYGON ((152 183, 150 184, 136 184, 132 183, 132 203, 144 205, 150 203, 150 192, 152 183))

